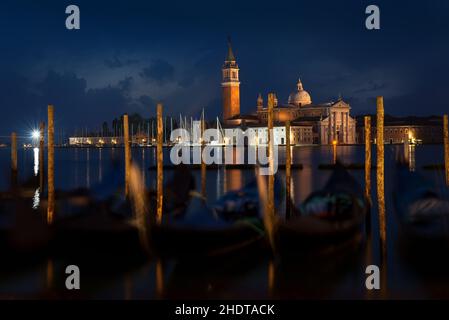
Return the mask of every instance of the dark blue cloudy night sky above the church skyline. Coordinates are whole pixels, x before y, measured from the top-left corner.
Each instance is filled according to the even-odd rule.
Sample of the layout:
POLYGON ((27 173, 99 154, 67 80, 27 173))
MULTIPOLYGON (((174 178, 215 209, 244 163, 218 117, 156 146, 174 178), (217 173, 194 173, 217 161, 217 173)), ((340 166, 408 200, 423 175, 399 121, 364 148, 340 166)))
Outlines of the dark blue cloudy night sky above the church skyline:
POLYGON ((221 114, 231 36, 241 110, 257 94, 287 101, 298 77, 315 103, 373 113, 448 112, 449 1, 2 1, 0 136, 25 134, 55 105, 56 126, 99 127, 121 114, 221 114), (65 28, 76 4, 81 30, 65 28), (381 30, 365 28, 377 4, 381 30))

